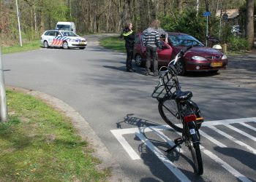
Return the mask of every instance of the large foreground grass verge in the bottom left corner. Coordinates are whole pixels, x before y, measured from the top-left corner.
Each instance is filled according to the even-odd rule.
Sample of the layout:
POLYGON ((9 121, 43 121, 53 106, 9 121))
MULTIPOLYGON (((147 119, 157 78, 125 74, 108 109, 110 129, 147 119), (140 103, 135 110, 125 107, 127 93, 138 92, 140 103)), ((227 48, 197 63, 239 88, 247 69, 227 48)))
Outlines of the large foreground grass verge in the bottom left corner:
POLYGON ((0 181, 107 181, 71 122, 31 95, 7 90, 0 123, 0 181))

